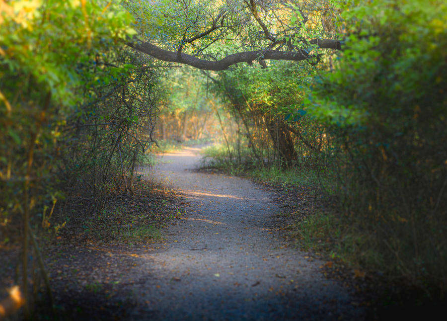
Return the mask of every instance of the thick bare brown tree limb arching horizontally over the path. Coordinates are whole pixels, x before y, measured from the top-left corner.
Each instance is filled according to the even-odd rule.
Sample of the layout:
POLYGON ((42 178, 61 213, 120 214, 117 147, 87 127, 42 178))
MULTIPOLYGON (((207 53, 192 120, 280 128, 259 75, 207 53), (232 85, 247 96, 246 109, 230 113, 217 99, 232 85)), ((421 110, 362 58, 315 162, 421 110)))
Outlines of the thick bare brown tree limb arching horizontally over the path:
MULTIPOLYGON (((340 42, 338 40, 331 39, 314 39, 310 40, 310 43, 317 44, 320 48, 340 49, 340 42)), ((301 61, 309 59, 308 55, 305 55, 298 51, 279 51, 279 50, 258 50, 258 51, 246 51, 239 52, 232 55, 228 55, 225 58, 218 61, 208 61, 199 59, 197 57, 161 49, 149 42, 144 43, 128 43, 128 45, 142 53, 148 54, 155 59, 159 59, 166 62, 173 62, 179 64, 190 65, 195 68, 203 70, 225 70, 229 66, 237 63, 251 63, 254 60, 289 60, 289 61, 301 61)))

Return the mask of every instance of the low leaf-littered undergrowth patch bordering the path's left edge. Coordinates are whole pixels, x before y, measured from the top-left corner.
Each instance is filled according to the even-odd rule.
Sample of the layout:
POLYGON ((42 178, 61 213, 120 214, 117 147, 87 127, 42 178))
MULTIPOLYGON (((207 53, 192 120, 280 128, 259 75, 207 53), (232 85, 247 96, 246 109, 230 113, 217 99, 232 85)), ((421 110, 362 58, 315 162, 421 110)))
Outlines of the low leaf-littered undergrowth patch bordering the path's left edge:
POLYGON ((87 202, 80 199, 67 208, 67 214, 61 213, 56 217, 59 222, 67 222, 60 235, 78 241, 120 243, 160 239, 159 229, 182 215, 182 209, 176 205, 178 202, 173 201, 175 196, 170 193, 163 187, 141 181, 134 186, 133 194, 126 191, 117 193, 99 213, 85 212, 87 202))

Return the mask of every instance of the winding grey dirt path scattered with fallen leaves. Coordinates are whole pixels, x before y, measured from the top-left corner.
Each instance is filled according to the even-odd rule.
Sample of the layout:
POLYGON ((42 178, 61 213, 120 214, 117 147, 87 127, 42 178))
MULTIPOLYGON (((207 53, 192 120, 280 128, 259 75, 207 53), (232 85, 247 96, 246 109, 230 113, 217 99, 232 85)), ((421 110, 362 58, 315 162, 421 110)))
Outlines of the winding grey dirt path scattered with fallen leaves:
POLYGON ((198 173, 199 149, 166 154, 155 179, 189 202, 186 216, 152 244, 133 320, 358 319, 349 292, 318 262, 287 247, 273 218, 273 195, 246 179, 198 173))

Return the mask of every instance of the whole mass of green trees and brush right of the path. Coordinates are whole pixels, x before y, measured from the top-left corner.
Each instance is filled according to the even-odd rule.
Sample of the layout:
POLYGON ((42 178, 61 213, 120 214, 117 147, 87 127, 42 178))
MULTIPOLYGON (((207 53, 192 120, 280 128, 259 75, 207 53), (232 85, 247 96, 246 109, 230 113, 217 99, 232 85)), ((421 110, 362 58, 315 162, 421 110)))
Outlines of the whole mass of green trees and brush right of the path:
POLYGON ((226 124, 233 134, 226 146, 207 151, 207 164, 290 183, 315 172, 341 214, 301 222, 305 243, 322 242, 388 277, 445 288, 446 4, 331 5, 331 19, 322 14, 314 30, 337 35, 344 49, 308 48, 322 64, 270 62, 267 70, 254 64, 213 76, 235 124, 226 124), (286 159, 286 145, 293 161, 279 170, 271 160, 286 159))

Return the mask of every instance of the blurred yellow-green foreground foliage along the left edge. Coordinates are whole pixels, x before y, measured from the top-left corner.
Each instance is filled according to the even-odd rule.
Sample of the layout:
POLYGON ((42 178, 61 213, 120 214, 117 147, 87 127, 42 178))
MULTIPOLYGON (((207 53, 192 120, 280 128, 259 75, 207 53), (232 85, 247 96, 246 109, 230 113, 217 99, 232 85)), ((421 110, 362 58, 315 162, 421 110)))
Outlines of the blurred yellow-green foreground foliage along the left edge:
MULTIPOLYGON (((54 173, 69 116, 97 81, 91 64, 128 35, 131 16, 106 1, 11 1, 0 11, 0 217, 42 213, 62 198, 54 173), (88 91, 88 89, 86 90, 88 91), (29 195, 31 192, 31 195, 29 195), (29 199, 28 199, 29 198, 29 199)), ((101 75, 110 82, 129 67, 101 75)), ((98 79, 99 80, 99 79, 98 79)), ((26 223, 25 223, 26 224, 26 223)))

